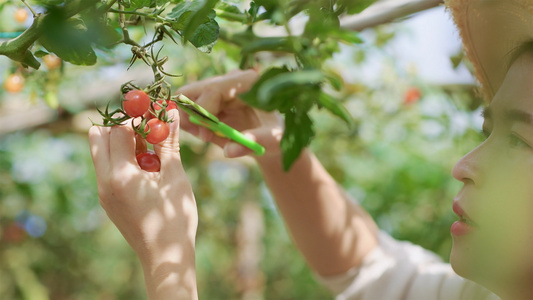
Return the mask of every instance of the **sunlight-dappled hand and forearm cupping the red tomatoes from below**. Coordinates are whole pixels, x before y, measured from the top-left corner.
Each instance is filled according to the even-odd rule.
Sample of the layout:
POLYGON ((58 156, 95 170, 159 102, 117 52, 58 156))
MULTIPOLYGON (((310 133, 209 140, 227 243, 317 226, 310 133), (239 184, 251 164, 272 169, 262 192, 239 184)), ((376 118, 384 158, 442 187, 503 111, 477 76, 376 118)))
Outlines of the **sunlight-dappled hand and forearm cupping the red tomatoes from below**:
POLYGON ((152 299, 192 299, 196 294, 194 242, 198 213, 179 153, 179 114, 169 137, 154 145, 161 171, 141 170, 131 126, 89 131, 98 196, 107 215, 137 253, 152 299), (177 296, 179 295, 179 297, 177 296))

